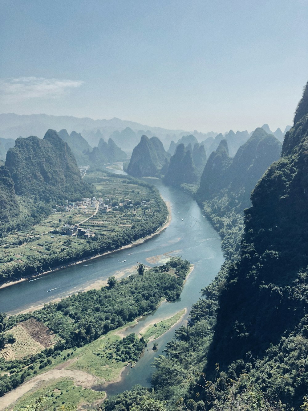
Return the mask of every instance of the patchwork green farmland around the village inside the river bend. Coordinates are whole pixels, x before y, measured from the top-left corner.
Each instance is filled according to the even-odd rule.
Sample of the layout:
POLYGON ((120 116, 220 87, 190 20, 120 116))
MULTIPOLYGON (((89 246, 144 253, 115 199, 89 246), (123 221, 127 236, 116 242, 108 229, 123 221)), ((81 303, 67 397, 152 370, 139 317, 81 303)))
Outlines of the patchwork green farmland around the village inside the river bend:
POLYGON ((67 247, 84 249, 91 238, 66 235, 69 226, 90 229, 91 237, 117 235, 133 224, 146 221, 158 210, 150 190, 125 176, 115 178, 98 171, 87 174, 85 180, 92 182, 94 196, 108 205, 109 211, 97 210, 97 205, 93 204, 57 211, 28 230, 9 234, 5 245, 0 246, 0 272, 5 268, 14 269, 14 266, 36 257, 57 254, 67 247))

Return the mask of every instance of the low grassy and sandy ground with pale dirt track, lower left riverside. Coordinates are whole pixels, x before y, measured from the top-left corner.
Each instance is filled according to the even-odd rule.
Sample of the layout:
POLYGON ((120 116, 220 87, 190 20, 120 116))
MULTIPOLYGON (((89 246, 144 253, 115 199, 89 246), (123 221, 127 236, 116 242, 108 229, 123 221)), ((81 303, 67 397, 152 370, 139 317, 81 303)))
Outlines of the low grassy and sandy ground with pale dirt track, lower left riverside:
MULTIPOLYGON (((191 267, 190 272, 192 269, 193 267, 191 267)), ((153 342, 182 321, 185 314, 186 310, 182 310, 170 318, 161 319, 158 323, 148 324, 140 331, 139 336, 143 335, 149 342, 153 342)), ((47 401, 49 397, 54 399, 54 393, 61 391, 57 387, 61 387, 61 384, 67 381, 70 381, 67 382, 69 386, 65 392, 61 391, 61 400, 69 402, 71 390, 74 390, 73 387, 76 387, 75 389, 79 387, 81 402, 85 404, 89 402, 92 404, 101 403, 106 398, 106 393, 94 390, 95 386, 121 381, 122 372, 130 364, 108 360, 108 351, 112 350, 114 342, 125 337, 129 327, 136 323, 137 319, 122 328, 109 332, 86 346, 77 348, 75 351, 71 349, 63 351, 64 358, 67 358, 67 353, 72 351, 69 360, 63 361, 63 358, 62 363, 34 376, 21 386, 5 394, 1 397, 0 411, 19 409, 21 406, 31 404, 42 394, 47 394, 47 401)), ((75 405, 80 405, 80 401, 75 402, 75 405)))

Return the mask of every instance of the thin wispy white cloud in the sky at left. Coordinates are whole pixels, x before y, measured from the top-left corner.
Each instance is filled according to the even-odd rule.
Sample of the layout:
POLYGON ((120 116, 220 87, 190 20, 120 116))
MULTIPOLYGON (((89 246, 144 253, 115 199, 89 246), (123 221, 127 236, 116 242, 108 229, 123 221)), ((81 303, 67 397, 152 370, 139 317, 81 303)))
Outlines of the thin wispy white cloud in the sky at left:
POLYGON ((42 77, 19 77, 18 79, 1 79, 0 94, 22 101, 38 97, 59 97, 71 88, 80 87, 83 81, 44 79, 42 77))

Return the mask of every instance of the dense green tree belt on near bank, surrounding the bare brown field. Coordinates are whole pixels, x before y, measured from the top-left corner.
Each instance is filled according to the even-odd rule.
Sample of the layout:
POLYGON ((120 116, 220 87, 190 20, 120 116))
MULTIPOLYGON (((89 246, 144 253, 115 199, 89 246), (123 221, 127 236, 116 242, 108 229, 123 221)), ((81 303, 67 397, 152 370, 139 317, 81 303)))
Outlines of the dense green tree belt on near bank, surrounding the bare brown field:
MULTIPOLYGON (((0 332, 34 318, 55 332, 59 340, 54 347, 21 360, 5 361, 0 358, 0 369, 4 372, 0 376, 0 395, 52 365, 62 350, 88 344, 140 315, 149 314, 164 298, 176 300, 188 270, 188 261, 172 258, 165 265, 141 275, 137 273, 120 281, 109 277, 106 287, 80 292, 60 302, 45 305, 41 310, 9 318, 1 315, 0 332)), ((138 341, 134 335, 129 335, 115 344, 113 356, 115 360, 125 357, 125 360, 136 361, 144 346, 143 338, 138 341)))

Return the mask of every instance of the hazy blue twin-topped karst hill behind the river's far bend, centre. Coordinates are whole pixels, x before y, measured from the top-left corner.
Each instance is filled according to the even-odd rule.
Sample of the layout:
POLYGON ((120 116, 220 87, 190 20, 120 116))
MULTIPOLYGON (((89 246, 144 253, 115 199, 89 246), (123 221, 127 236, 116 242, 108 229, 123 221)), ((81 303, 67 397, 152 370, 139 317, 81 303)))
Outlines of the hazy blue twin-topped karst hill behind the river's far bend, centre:
POLYGON ((169 155, 157 137, 142 136, 140 143, 133 149, 127 173, 134 177, 159 177, 161 169, 168 164, 169 155))

